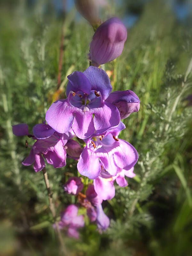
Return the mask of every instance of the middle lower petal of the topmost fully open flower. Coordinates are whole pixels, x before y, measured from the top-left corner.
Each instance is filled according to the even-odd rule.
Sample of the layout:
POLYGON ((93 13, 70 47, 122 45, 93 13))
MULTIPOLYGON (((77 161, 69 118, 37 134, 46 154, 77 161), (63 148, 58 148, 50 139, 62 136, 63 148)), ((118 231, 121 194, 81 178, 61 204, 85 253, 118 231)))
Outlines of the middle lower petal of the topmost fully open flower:
POLYGON ((90 111, 76 112, 72 129, 79 139, 90 137, 95 131, 92 113, 90 113, 90 111))

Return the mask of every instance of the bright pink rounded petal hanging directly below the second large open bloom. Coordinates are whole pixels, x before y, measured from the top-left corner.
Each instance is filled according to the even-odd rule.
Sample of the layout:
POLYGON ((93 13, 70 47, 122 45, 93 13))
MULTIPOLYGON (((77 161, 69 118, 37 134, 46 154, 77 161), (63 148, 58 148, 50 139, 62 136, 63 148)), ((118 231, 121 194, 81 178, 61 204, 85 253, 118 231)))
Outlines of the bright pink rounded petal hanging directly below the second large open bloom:
POLYGON ((112 179, 98 177, 93 180, 93 185, 97 195, 103 200, 110 200, 115 196, 115 187, 112 179))

